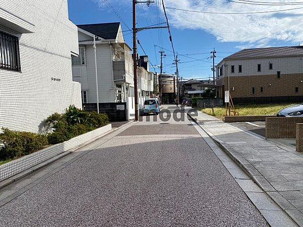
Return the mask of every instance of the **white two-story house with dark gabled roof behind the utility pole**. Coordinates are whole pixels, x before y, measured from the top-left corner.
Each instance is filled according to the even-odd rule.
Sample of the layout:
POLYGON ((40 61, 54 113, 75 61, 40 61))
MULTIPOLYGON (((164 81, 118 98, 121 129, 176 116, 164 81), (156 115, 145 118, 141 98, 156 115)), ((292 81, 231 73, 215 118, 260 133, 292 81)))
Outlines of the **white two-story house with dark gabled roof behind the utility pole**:
POLYGON ((74 81, 81 83, 83 105, 95 104, 96 109, 98 102, 100 111, 112 112, 102 108, 105 104, 126 103, 127 109, 133 109, 133 59, 121 24, 78 25, 78 37, 80 54, 72 59, 72 66, 74 81))

